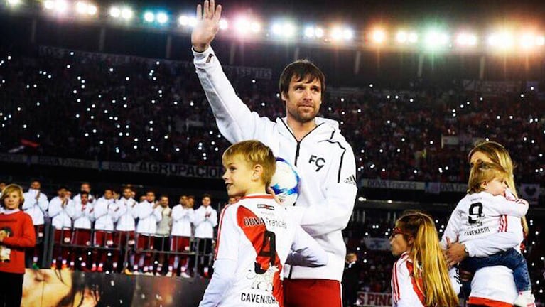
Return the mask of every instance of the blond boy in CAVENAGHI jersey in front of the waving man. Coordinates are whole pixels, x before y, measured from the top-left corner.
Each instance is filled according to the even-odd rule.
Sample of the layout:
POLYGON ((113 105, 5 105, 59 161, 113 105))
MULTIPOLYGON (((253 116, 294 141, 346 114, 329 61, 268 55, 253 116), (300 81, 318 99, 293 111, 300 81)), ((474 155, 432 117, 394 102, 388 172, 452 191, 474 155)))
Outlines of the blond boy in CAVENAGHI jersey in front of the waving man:
POLYGON ((286 259, 324 266, 328 255, 296 224, 288 208, 266 194, 276 169, 269 147, 259 141, 239 142, 225 151, 222 163, 227 194, 242 198, 222 211, 215 270, 199 306, 284 306, 281 276, 286 259))

